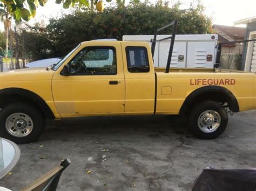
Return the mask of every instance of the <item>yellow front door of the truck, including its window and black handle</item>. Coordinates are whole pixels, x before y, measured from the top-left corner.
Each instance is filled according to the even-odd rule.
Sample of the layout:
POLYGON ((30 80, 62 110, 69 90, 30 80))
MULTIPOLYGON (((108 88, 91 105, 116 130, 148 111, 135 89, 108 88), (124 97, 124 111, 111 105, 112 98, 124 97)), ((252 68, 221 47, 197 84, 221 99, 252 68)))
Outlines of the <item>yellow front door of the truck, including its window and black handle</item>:
POLYGON ((60 116, 124 114, 120 43, 92 41, 81 46, 64 63, 68 64, 70 74, 63 76, 62 66, 53 75, 53 99, 60 116))

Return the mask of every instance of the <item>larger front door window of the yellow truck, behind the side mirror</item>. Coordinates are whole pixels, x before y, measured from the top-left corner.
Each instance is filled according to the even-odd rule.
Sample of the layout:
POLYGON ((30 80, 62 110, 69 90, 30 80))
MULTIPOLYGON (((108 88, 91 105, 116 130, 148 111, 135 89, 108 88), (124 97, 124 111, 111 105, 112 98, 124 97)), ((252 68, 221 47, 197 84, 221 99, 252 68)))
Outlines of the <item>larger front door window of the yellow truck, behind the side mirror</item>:
POLYGON ((69 63, 72 75, 117 74, 116 50, 113 47, 86 47, 69 63))

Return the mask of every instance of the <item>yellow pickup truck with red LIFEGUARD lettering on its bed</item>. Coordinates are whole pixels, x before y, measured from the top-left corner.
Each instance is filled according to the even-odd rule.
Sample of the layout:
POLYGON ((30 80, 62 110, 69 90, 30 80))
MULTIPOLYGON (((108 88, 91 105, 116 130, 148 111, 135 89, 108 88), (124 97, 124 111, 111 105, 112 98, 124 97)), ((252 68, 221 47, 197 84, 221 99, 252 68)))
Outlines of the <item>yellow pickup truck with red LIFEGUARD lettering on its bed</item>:
POLYGON ((0 136, 32 142, 45 119, 180 115, 196 137, 212 139, 226 129, 227 109, 256 109, 254 73, 169 67, 154 68, 147 43, 86 41, 54 67, 0 73, 0 136))

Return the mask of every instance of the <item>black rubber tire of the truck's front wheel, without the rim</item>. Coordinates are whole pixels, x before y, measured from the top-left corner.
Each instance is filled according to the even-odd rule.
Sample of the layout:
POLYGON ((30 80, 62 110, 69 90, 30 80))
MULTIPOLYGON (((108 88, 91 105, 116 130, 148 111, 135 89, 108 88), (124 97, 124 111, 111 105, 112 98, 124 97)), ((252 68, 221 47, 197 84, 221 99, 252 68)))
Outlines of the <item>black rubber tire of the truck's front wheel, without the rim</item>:
MULTIPOLYGON (((17 121, 17 118, 14 120, 17 121)), ((44 128, 45 118, 42 112, 33 105, 27 103, 11 103, 0 110, 0 137, 12 140, 12 142, 15 142, 17 144, 34 142, 43 133, 44 128), (31 131, 28 131, 29 134, 24 137, 17 137, 11 135, 11 133, 8 132, 8 130, 6 129, 6 120, 9 118, 9 116, 16 113, 25 114, 26 116, 29 116, 32 120, 33 128, 31 131)))

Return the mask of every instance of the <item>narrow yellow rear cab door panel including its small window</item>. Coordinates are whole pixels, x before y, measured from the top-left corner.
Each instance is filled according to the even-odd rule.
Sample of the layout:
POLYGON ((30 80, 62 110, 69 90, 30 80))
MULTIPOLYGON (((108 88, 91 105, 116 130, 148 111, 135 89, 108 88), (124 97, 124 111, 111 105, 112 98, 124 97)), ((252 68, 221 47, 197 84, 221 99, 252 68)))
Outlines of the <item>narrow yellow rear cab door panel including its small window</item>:
POLYGON ((155 77, 149 45, 122 43, 125 114, 153 114, 155 77))

